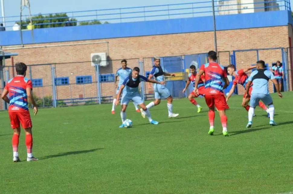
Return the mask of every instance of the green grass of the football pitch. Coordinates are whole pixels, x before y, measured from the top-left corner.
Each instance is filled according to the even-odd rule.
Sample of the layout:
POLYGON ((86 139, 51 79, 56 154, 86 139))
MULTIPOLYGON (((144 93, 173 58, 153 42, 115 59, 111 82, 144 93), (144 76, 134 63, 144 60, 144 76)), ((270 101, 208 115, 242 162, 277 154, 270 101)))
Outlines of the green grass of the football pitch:
POLYGON ((132 103, 121 124, 119 107, 88 105, 40 109, 33 117, 35 157, 26 162, 24 133, 22 162, 12 162, 12 130, 7 112, 0 113, 0 193, 280 193, 293 191, 292 98, 272 95, 275 121, 256 108, 253 127, 246 129, 242 96, 229 100, 230 137, 222 135, 218 114, 215 134, 208 135, 204 109, 188 99, 174 100, 178 118, 168 118, 166 101, 150 109, 158 126, 148 124, 132 103))

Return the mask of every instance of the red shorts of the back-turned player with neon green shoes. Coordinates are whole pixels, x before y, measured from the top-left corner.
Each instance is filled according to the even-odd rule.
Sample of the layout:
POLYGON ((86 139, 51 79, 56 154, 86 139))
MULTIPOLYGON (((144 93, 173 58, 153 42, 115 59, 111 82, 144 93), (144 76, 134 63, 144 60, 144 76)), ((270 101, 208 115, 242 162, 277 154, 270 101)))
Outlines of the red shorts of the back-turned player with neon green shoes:
POLYGON ((216 106, 218 111, 229 109, 224 95, 204 95, 204 99, 209 108, 216 106))

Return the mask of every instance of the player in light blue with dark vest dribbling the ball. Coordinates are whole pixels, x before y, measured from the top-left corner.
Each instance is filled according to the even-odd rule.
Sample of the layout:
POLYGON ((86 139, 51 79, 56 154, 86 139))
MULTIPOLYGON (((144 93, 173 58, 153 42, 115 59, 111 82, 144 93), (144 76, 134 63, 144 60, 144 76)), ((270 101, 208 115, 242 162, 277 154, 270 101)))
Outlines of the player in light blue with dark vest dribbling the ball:
POLYGON ((120 128, 124 127, 124 121, 126 120, 126 108, 131 100, 134 102, 134 105, 139 105, 141 108, 141 111, 147 115, 147 118, 149 119, 151 124, 159 124, 159 122, 153 120, 150 116, 150 111, 147 109, 146 105, 143 102, 143 99, 140 97, 140 94, 138 92, 138 86, 140 82, 151 82, 151 83, 156 83, 156 84, 165 84, 165 81, 158 82, 156 80, 150 80, 147 79, 146 77, 139 75, 140 69, 138 67, 134 67, 132 74, 128 75, 128 77, 125 78, 123 81, 117 97, 116 97, 116 102, 115 105, 117 106, 119 104, 119 98, 123 90, 122 98, 121 98, 121 120, 122 120, 122 125, 120 125, 120 128))

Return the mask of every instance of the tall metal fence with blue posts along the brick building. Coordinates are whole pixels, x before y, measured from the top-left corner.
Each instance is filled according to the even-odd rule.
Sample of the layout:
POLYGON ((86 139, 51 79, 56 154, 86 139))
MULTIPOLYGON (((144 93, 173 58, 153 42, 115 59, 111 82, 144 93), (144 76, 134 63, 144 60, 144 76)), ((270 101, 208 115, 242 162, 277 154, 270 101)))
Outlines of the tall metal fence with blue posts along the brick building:
MULTIPOLYGON (((251 67, 258 60, 264 60, 266 68, 269 70, 269 67, 275 65, 276 61, 281 61, 285 75, 282 91, 290 91, 293 80, 292 51, 293 48, 271 48, 219 52, 218 62, 224 66, 234 64, 236 69, 242 69, 251 67)), ((163 70, 176 74, 176 77, 165 77, 166 87, 174 98, 188 96, 193 89, 192 85, 185 93, 182 90, 188 80, 189 67, 195 65, 199 69, 202 64, 208 62, 207 57, 207 53, 201 53, 160 58, 163 70)), ((33 83, 33 94, 39 107, 111 103, 116 97, 114 78, 116 71, 121 67, 121 60, 107 61, 106 67, 92 66, 91 61, 29 65, 26 77, 33 83)), ((140 74, 148 77, 153 67, 153 58, 143 58, 141 61, 138 58, 127 59, 127 67, 131 69, 140 67, 140 74)), ((5 83, 15 76, 14 71, 13 66, 3 67, 5 83)), ((230 90, 233 77, 230 76, 229 80, 230 86, 225 93, 230 90)), ((274 91, 272 83, 269 87, 271 91, 274 91)), ((1 86, 0 92, 2 90, 3 86, 1 86)), ((243 92, 243 87, 235 90, 236 94, 243 94, 243 92)), ((140 84, 140 94, 143 99, 153 99, 153 87, 149 83, 140 84)), ((5 109, 5 103, 1 100, 0 110, 5 109)))

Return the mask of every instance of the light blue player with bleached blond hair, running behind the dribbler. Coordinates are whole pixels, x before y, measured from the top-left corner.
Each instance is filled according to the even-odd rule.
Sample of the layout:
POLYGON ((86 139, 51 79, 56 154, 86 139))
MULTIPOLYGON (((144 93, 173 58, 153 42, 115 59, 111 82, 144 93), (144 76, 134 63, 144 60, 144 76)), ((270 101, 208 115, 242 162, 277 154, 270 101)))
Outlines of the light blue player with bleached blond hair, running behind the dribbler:
MULTIPOLYGON (((154 57, 154 64, 155 65, 153 66, 153 69, 151 70, 149 75, 149 80, 152 79, 152 77, 155 77, 155 80, 157 80, 158 82, 162 82, 164 80, 164 76, 175 77, 175 74, 168 74, 163 71, 162 67, 160 66, 159 57, 154 57)), ((174 114, 172 111, 173 98, 170 91, 164 85, 154 84, 153 87, 155 92, 155 101, 150 102, 150 104, 147 105, 147 109, 150 109, 153 106, 159 105, 161 102, 161 98, 167 99, 167 108, 168 108, 169 118, 177 117, 179 114, 174 114)), ((141 112, 141 116, 144 118, 145 114, 141 112)))

